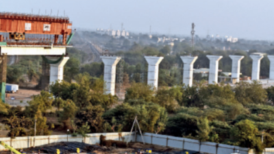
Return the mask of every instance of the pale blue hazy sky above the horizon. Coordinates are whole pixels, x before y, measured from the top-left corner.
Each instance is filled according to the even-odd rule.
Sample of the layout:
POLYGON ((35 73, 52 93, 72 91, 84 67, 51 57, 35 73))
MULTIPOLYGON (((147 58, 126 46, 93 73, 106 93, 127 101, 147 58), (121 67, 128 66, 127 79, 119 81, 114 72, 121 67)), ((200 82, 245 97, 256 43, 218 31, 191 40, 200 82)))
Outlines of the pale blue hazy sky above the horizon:
POLYGON ((0 12, 68 15, 73 27, 274 40, 273 0, 0 0, 0 12))

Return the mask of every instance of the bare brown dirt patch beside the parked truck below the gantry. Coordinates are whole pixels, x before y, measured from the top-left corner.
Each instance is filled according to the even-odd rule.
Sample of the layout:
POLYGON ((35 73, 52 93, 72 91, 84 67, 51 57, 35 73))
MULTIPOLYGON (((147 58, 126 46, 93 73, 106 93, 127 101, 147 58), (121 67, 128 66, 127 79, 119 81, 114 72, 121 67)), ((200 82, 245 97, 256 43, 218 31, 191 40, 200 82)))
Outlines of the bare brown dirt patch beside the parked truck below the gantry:
POLYGON ((5 102, 12 106, 26 106, 27 101, 32 101, 32 96, 36 94, 40 94, 40 90, 19 89, 16 93, 9 94, 10 97, 6 97, 5 102), (12 97, 14 97, 14 100, 12 100, 12 97))

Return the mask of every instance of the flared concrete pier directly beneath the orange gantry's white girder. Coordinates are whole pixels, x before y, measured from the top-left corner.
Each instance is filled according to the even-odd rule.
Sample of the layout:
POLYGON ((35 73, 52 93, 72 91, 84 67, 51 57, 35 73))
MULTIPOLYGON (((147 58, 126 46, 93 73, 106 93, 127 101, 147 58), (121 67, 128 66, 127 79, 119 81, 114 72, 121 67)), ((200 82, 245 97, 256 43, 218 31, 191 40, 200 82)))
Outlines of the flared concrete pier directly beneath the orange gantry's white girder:
MULTIPOLYGON (((58 57, 59 58, 59 57, 58 57)), ((50 60, 58 60, 58 58, 50 57, 50 60)), ((50 65, 50 72, 49 72, 49 83, 53 84, 55 81, 62 81, 64 75, 64 65, 68 62, 69 57, 64 57, 60 62, 57 64, 49 64, 50 65)))

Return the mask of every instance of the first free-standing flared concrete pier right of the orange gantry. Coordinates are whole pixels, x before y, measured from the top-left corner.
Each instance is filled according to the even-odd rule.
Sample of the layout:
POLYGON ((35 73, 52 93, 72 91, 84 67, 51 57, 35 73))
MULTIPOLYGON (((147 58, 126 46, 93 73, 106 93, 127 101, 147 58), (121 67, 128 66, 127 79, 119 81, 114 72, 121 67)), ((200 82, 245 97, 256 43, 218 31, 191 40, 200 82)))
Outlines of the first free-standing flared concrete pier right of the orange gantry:
POLYGON ((107 94, 115 94, 116 65, 121 57, 100 56, 104 66, 103 80, 106 83, 107 94))

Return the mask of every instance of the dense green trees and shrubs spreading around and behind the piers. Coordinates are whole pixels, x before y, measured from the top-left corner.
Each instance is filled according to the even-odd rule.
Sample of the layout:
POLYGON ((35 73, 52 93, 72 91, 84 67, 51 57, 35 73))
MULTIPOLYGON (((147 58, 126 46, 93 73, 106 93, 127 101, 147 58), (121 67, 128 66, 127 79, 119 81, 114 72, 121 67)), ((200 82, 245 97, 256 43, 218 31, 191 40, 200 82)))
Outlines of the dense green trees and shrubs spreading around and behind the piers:
MULTIPOLYGON (((144 36, 143 39, 148 38, 144 36)), ((195 75, 192 87, 182 85, 180 55, 198 55, 195 68, 208 67, 206 55, 223 55, 219 63, 223 72, 231 71, 228 55, 245 55, 241 72, 250 76, 252 61, 249 55, 256 50, 220 51, 208 48, 210 42, 197 43, 193 50, 187 42, 178 41, 172 53, 163 43, 142 45, 127 42, 125 38, 111 40, 112 44, 108 45, 123 41, 121 49, 126 50, 117 52, 124 55, 117 66, 123 66, 123 86, 127 87, 123 102, 116 96, 105 94, 103 63, 86 64, 86 53, 71 48, 67 50, 70 59, 64 69, 64 81, 51 85, 50 93, 42 91, 34 96, 25 109, 0 102, 1 118, 10 130, 8 136, 34 135, 35 120, 36 135, 48 135, 55 129, 70 129, 73 135, 79 133, 82 136, 89 132, 129 131, 137 115, 144 132, 244 146, 256 149, 258 153, 264 147, 274 146, 274 87, 264 89, 256 81, 251 84, 240 82, 235 87, 223 83, 206 85, 201 75, 195 75), (144 55, 164 56, 157 91, 145 84, 147 62, 144 55)), ((222 45, 222 42, 216 42, 216 46, 222 45)), ((240 42, 238 46, 229 45, 244 48, 240 42)), ((264 52, 272 54, 274 51, 267 46, 264 52)), ((41 58, 22 58, 8 66, 7 82, 23 82, 24 73, 30 81, 39 81, 41 58)), ((269 76, 267 58, 262 59, 260 73, 269 76)))

